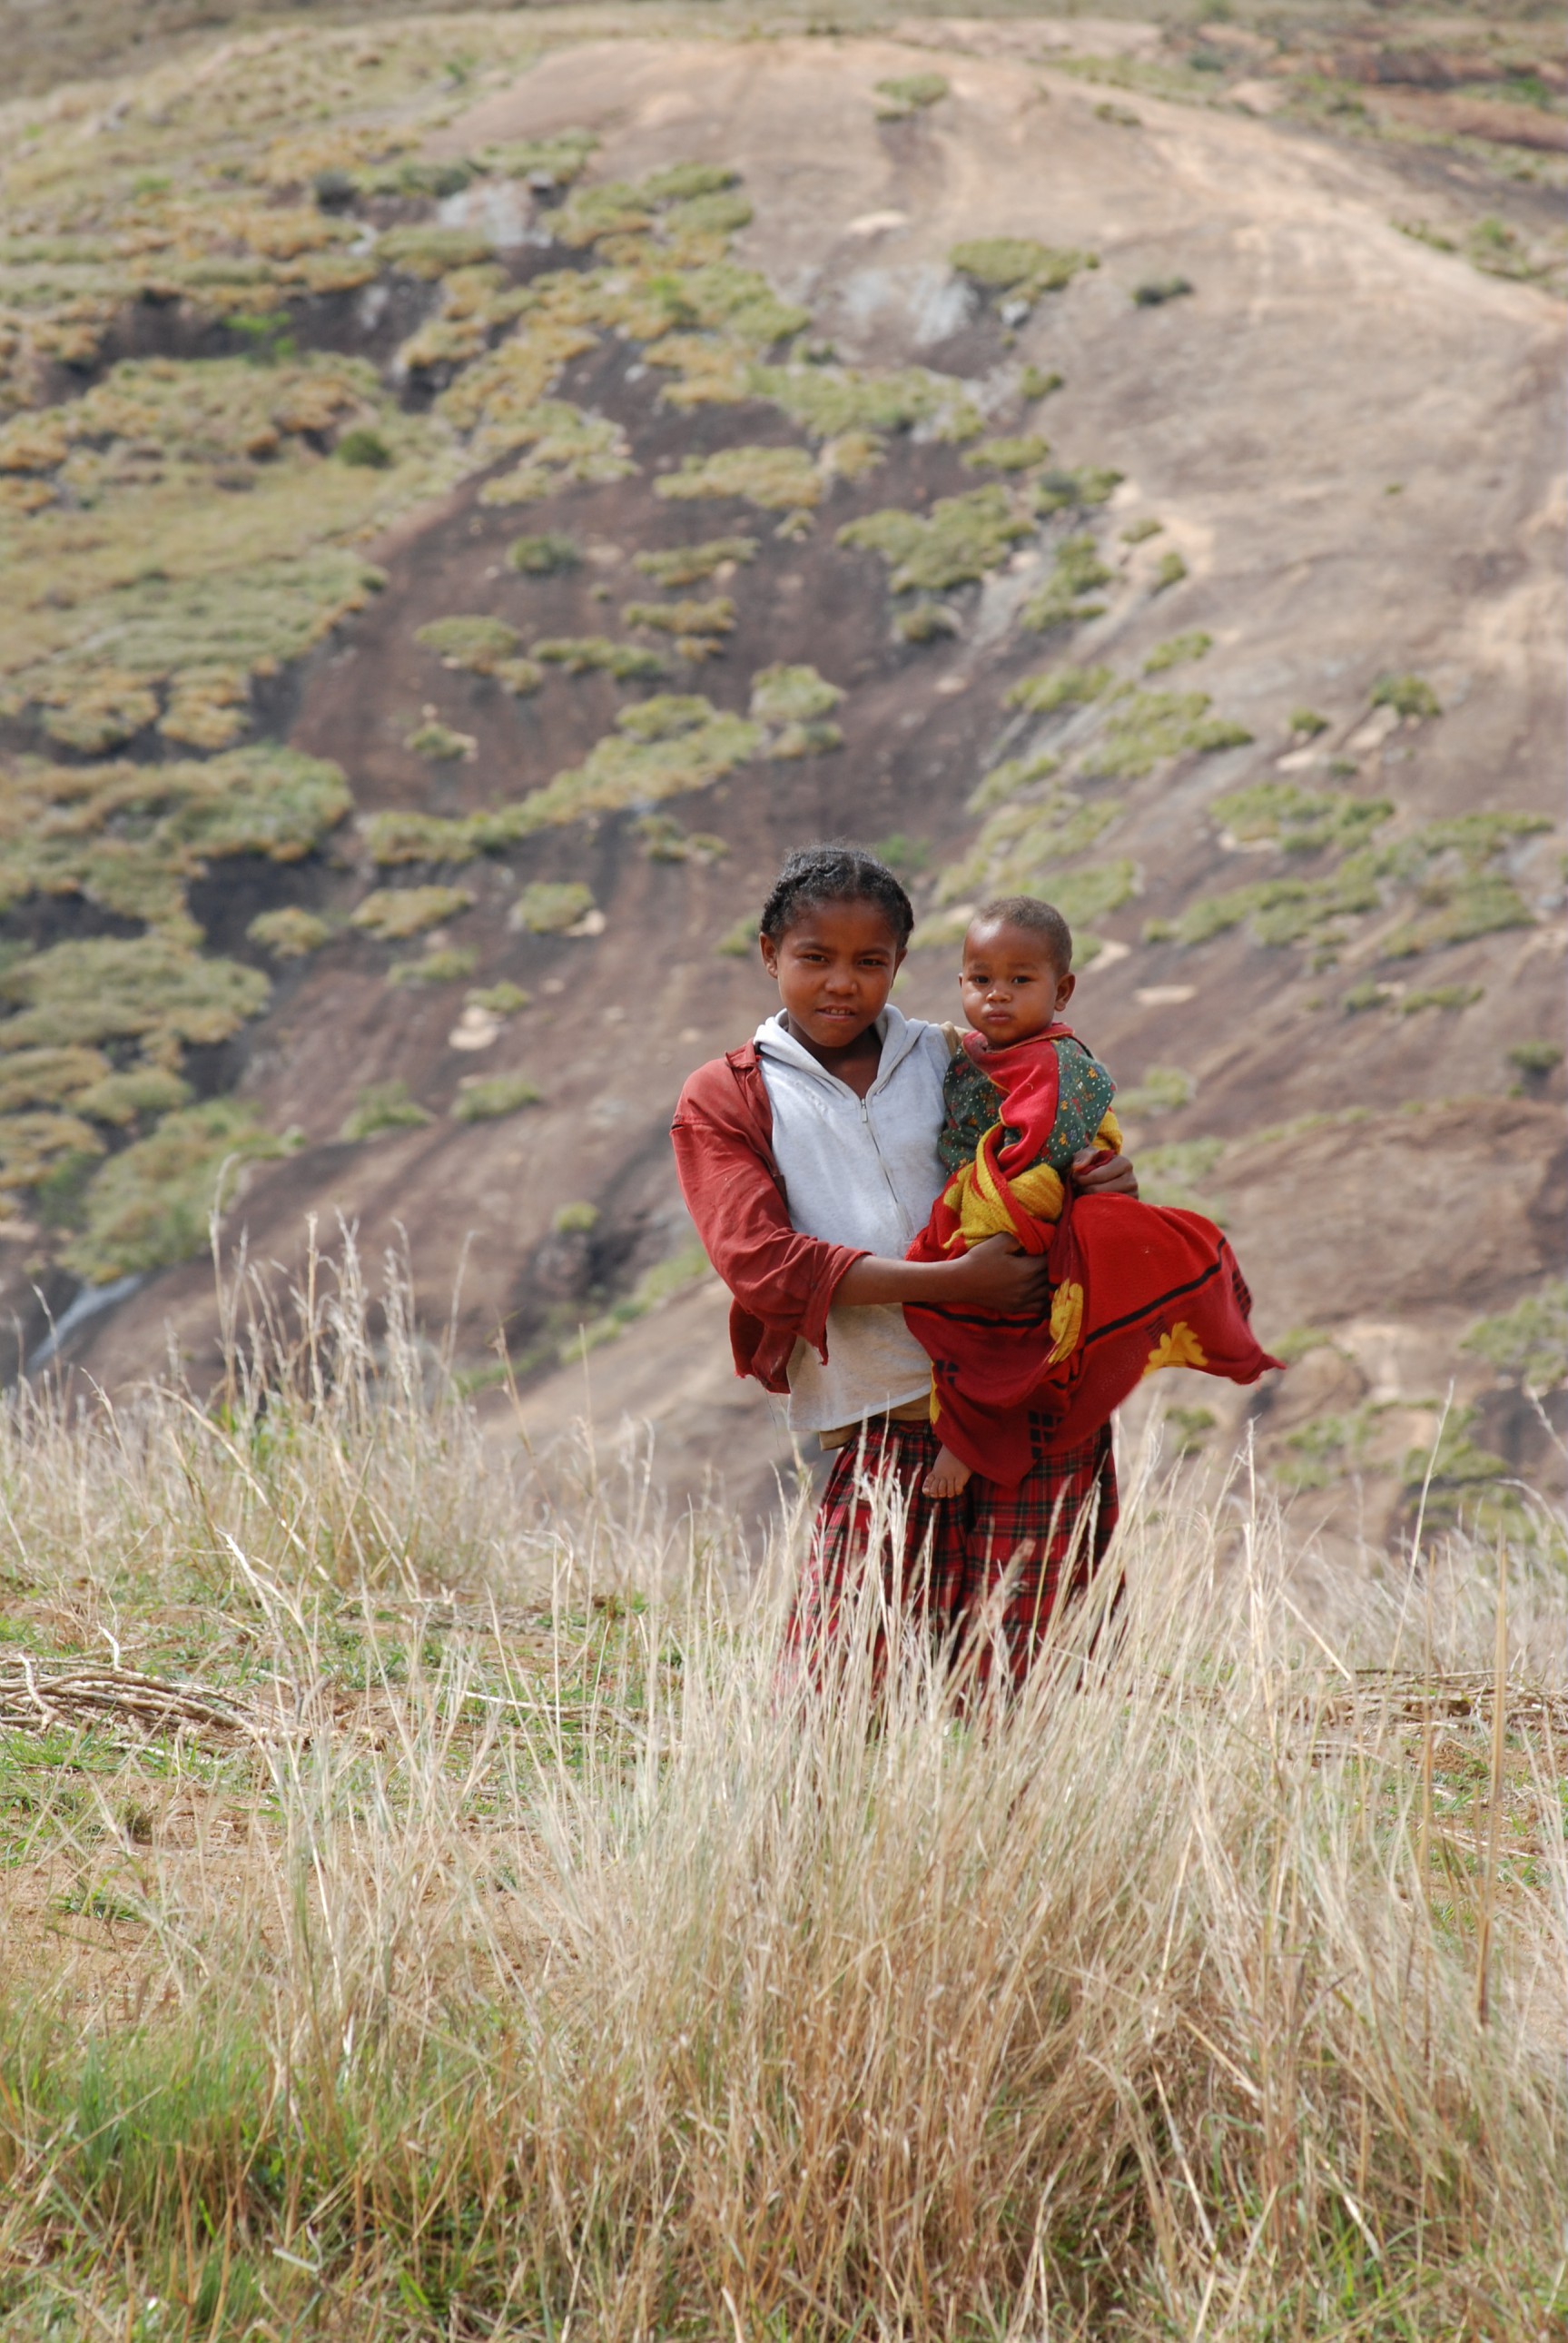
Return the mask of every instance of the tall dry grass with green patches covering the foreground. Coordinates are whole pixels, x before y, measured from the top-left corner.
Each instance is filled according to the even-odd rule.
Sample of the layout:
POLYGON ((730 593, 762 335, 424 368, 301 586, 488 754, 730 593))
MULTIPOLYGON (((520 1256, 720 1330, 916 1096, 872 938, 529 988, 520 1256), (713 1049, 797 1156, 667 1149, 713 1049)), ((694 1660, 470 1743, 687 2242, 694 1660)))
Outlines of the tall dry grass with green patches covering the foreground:
POLYGON ((1015 1706, 874 1584, 811 1689, 731 1525, 295 1303, 0 1425, 7 2336, 1563 2331, 1547 1544, 1308 1621, 1151 1481, 1015 1706), (73 1647, 255 1736, 42 1729, 73 1647))

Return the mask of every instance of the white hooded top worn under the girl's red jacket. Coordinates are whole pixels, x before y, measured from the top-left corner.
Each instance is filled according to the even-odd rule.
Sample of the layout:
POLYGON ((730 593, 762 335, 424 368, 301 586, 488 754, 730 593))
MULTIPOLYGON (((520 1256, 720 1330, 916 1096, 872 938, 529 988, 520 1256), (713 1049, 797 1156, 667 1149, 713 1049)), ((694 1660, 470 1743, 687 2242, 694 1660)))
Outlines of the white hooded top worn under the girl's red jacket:
MULTIPOLYGON (((895 1007, 881 1012, 877 1031, 881 1066, 865 1099, 785 1031, 783 1010, 755 1040, 795 1228, 902 1261, 947 1183, 938 1132, 949 1038, 895 1007)), ((853 1425, 930 1389, 930 1359, 898 1303, 834 1303, 827 1359, 797 1343, 788 1373, 792 1432, 853 1425)))

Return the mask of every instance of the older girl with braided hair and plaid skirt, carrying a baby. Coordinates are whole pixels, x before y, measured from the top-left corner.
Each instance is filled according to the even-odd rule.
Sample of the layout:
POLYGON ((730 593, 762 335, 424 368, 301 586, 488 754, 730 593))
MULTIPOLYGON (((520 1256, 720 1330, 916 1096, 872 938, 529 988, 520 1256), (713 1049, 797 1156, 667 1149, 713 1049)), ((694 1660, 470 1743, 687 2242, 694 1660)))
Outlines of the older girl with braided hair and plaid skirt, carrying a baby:
MULTIPOLYGON (((734 1296, 736 1373, 788 1392, 790 1427, 834 1457, 792 1638, 825 1649, 867 1567, 977 1673, 1022 1678, 1066 1593, 1088 1584, 1116 1530, 1109 1422, 1057 1441, 1003 1488, 984 1462, 954 1502, 923 1492, 938 1455, 930 1361, 905 1321, 1022 1314, 1038 1352, 1050 1307, 1041 1246, 975 1239, 909 1261, 949 1186, 938 1153, 952 1040, 891 1003, 914 909, 893 872, 848 846, 792 853, 762 911, 776 1015, 698 1066, 675 1108, 680 1186, 734 1296), (1034 1256, 1034 1258, 1031 1258, 1034 1256), (874 1502, 893 1483, 891 1511, 874 1502), (881 1523, 881 1530, 877 1528, 881 1523), (898 1551, 877 1556, 877 1537, 898 1551)), ((1095 1195, 1137 1193, 1120 1157, 1064 1169, 1095 1195)))

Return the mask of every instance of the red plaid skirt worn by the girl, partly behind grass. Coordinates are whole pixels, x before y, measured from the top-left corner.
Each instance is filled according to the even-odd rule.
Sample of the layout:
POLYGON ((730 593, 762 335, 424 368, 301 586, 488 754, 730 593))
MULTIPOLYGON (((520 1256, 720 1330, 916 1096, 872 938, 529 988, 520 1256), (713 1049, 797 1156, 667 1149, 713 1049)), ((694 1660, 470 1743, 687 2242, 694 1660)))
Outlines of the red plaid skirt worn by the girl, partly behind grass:
POLYGON ((1111 1544, 1118 1514, 1111 1427, 1043 1457, 1013 1488, 975 1474, 959 1497, 923 1497, 921 1481, 940 1446, 928 1425, 879 1422, 839 1448, 788 1640, 820 1649, 834 1638, 877 1537, 888 1603, 921 1619, 982 1682, 998 1659, 1022 1682, 1052 1610, 1088 1586, 1111 1544), (877 1502, 884 1476, 902 1492, 898 1509, 877 1502))

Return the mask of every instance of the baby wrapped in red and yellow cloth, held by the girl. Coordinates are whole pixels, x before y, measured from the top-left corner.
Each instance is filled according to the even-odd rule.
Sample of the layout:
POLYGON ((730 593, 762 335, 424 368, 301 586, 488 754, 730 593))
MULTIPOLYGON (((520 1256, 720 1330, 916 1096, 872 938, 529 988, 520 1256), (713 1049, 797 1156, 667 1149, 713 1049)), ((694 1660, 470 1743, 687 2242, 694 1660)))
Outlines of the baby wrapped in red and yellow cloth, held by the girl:
MULTIPOLYGON (((1116 1082, 1062 1010, 1073 937, 1029 895, 991 902, 963 937, 959 989, 975 1031, 952 1059, 938 1153, 949 1169, 909 1261, 954 1261, 1010 1235, 1048 1256, 1048 1319, 905 1305, 930 1354, 930 1420, 942 1446, 923 1492, 956 1497, 973 1471, 1022 1478, 1057 1443, 1109 1422, 1160 1366, 1256 1382, 1252 1298, 1221 1230, 1195 1211, 1132 1197, 1071 1200, 1085 1148, 1120 1153, 1116 1082)), ((1092 1160, 1092 1157, 1090 1157, 1092 1160)))

